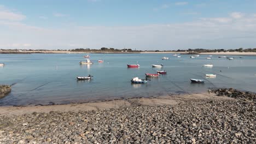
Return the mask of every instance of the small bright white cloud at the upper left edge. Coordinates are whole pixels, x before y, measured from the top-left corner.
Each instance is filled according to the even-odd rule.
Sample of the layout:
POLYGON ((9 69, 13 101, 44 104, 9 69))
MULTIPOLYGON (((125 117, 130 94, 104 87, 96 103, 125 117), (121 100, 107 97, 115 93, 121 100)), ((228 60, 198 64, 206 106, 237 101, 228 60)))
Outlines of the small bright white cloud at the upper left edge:
POLYGON ((4 5, 0 5, 0 20, 8 20, 8 21, 21 21, 26 18, 25 15, 16 13, 4 7, 4 5))

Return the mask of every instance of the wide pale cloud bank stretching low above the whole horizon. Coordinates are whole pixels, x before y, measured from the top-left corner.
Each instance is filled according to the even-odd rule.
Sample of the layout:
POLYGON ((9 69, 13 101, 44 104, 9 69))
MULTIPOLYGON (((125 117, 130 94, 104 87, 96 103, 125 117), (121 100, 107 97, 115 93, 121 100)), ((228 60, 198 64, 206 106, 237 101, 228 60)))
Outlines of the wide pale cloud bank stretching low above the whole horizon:
POLYGON ((255 23, 253 14, 240 19, 231 15, 205 17, 166 25, 66 26, 58 29, 0 21, 0 49, 123 49, 124 44, 137 50, 249 48, 256 45, 255 23))

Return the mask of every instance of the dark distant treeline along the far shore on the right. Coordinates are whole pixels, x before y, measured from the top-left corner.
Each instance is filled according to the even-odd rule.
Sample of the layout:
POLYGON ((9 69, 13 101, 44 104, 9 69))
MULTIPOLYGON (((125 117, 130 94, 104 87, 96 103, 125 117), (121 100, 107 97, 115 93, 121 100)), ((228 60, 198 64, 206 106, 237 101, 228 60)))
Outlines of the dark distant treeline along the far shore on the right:
POLYGON ((256 52, 256 48, 254 49, 243 49, 242 47, 239 49, 214 49, 214 50, 207 50, 207 49, 188 49, 188 50, 177 50, 176 52, 193 52, 193 53, 201 53, 201 52, 256 52))

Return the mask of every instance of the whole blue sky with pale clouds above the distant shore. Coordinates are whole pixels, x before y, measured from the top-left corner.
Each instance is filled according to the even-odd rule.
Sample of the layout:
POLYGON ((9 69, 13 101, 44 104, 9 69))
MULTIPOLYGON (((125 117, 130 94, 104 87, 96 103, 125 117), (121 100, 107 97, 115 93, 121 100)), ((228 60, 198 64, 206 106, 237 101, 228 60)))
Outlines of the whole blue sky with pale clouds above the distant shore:
POLYGON ((256 47, 256 0, 0 0, 0 49, 256 47))

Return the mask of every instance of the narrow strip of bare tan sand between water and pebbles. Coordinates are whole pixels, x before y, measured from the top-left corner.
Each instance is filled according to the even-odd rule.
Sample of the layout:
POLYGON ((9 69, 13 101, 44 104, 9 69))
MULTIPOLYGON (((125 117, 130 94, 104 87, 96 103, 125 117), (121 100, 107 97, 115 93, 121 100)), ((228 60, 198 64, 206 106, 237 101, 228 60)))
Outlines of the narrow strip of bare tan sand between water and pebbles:
POLYGON ((25 106, 0 106, 0 116, 3 115, 24 115, 33 112, 78 112, 106 109, 120 109, 132 106, 163 106, 177 105, 185 100, 203 100, 203 99, 233 99, 227 97, 218 97, 214 93, 194 93, 194 94, 176 94, 165 95, 158 97, 139 97, 129 99, 113 99, 113 100, 98 100, 86 103, 70 103, 70 104, 54 104, 54 105, 25 105, 25 106))

